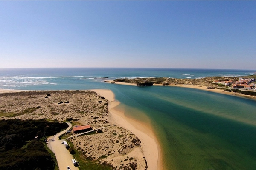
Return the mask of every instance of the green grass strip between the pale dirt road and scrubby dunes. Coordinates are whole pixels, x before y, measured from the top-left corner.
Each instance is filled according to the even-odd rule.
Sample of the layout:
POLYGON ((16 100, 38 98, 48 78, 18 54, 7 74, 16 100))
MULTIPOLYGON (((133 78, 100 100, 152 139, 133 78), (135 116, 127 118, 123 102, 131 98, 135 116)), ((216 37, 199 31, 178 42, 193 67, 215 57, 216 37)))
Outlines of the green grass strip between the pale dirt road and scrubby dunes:
POLYGON ((73 148, 75 151, 75 154, 73 157, 76 159, 76 161, 79 162, 79 170, 113 170, 114 168, 111 167, 111 165, 108 164, 97 164, 96 161, 90 161, 88 159, 83 158, 83 154, 81 151, 76 150, 74 148, 74 144, 70 141, 68 141, 68 144, 70 147, 73 148))

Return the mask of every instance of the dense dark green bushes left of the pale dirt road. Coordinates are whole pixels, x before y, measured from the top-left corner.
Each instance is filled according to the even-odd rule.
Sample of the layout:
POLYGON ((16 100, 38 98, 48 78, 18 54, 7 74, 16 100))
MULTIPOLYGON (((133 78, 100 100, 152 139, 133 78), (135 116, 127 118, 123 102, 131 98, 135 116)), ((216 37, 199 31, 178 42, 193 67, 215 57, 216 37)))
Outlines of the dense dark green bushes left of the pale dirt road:
POLYGON ((55 161, 40 139, 67 128, 66 123, 40 120, 0 120, 1 170, 53 170, 55 161))

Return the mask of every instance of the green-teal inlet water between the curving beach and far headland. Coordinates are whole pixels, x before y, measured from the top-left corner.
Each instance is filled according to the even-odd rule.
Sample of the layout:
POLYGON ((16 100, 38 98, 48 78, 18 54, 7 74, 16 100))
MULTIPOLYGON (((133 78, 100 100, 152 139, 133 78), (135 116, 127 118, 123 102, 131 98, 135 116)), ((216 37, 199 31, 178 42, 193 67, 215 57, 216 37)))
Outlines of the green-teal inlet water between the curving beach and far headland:
POLYGON ((151 119, 167 170, 256 166, 256 101, 179 87, 129 86, 122 93, 116 99, 151 119))

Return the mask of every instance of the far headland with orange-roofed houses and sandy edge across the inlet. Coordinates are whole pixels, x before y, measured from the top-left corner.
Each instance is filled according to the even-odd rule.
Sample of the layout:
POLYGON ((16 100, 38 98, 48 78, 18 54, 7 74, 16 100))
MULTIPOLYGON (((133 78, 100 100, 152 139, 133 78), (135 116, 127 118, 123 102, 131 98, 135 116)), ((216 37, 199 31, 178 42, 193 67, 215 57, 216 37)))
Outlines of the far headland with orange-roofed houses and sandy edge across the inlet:
MULTIPOLYGON (((204 77, 200 79, 176 79, 168 77, 157 78, 135 78, 135 79, 115 79, 105 82, 119 85, 133 86, 177 86, 184 88, 196 88, 215 93, 241 96, 250 99, 256 99, 256 75, 246 77, 204 77), (244 81, 242 79, 248 79, 244 81), (233 84, 233 85, 232 85, 233 84), (234 88, 234 85, 240 85, 241 88, 234 88)), ((239 87, 239 86, 238 86, 239 87)))

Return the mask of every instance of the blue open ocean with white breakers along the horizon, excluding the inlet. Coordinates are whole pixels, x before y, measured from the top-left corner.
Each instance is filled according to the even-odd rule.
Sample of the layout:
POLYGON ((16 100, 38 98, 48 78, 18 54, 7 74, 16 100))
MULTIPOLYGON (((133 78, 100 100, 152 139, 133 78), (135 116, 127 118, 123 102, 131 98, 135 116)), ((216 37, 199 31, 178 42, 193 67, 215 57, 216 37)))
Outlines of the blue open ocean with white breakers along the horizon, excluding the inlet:
MULTIPOLYGON (((172 77, 244 76, 256 70, 181 69, 181 68, 0 68, 0 88, 10 89, 88 89, 101 77, 172 77), (95 81, 89 81, 95 80, 95 81)), ((100 87, 101 85, 99 85, 100 87)))

